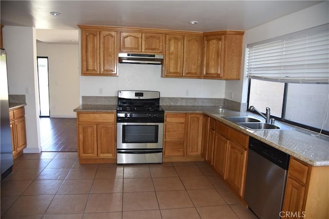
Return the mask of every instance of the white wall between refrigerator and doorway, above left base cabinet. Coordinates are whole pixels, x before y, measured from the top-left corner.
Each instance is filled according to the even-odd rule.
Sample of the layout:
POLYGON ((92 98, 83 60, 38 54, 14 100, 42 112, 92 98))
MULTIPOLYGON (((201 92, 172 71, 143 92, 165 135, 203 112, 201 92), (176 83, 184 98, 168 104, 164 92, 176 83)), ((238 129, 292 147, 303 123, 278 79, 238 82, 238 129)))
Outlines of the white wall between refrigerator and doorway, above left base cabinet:
POLYGON ((39 153, 41 144, 35 28, 5 26, 3 39, 7 52, 9 94, 26 95, 27 148, 24 149, 24 152, 39 153))

